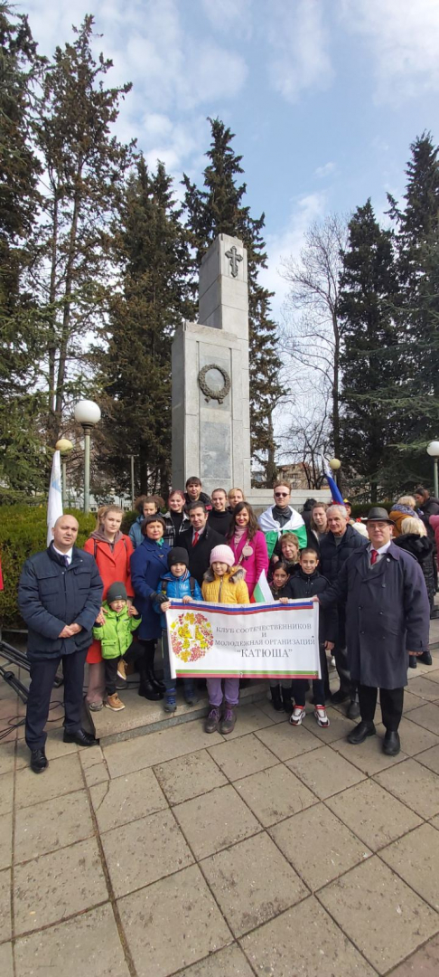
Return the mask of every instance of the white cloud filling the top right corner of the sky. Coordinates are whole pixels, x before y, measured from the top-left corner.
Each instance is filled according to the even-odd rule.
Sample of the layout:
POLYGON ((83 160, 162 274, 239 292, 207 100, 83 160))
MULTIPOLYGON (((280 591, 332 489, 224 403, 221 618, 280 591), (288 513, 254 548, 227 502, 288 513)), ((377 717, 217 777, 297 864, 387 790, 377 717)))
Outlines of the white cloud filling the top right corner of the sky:
POLYGON ((366 39, 377 101, 399 105, 439 89, 437 0, 339 0, 339 13, 366 39))

